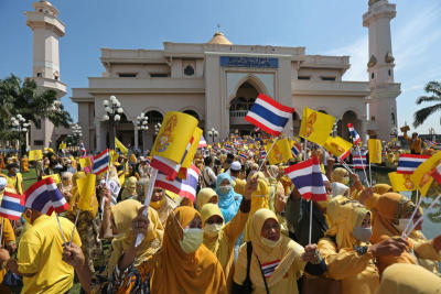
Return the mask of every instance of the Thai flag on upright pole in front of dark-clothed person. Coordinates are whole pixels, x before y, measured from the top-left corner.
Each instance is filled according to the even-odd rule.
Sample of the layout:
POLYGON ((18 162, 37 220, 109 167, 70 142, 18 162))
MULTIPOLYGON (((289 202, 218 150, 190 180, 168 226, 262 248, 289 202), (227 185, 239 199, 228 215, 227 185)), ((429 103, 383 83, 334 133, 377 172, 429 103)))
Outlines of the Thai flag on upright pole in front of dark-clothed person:
POLYGON ((327 199, 322 170, 318 157, 291 165, 284 172, 294 183, 304 199, 324 202, 327 199))

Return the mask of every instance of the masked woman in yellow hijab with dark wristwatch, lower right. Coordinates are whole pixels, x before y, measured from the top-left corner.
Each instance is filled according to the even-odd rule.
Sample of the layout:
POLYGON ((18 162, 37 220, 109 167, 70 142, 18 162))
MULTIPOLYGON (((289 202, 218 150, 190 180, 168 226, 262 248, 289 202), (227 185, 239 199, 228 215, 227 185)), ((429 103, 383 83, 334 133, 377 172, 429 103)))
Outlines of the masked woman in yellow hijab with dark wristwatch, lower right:
POLYGON ((375 293, 379 274, 367 247, 372 236, 369 210, 358 202, 336 196, 326 211, 331 227, 318 244, 326 261, 325 275, 341 281, 342 294, 375 293))

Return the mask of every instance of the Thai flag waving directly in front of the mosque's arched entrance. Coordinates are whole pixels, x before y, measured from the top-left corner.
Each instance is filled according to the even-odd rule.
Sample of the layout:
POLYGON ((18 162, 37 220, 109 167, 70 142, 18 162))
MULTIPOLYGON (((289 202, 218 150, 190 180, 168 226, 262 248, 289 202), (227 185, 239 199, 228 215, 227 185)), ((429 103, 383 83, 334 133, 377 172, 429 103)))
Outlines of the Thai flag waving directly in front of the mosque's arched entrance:
POLYGON ((292 112, 294 112, 292 107, 259 94, 245 119, 269 134, 280 135, 292 112))

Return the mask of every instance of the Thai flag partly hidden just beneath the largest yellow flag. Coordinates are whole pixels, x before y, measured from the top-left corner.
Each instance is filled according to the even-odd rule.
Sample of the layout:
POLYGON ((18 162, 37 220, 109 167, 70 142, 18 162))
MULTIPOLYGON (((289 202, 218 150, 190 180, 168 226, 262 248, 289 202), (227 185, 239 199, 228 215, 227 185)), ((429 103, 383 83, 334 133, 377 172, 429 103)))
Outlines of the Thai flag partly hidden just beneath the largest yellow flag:
POLYGON ((191 167, 187 168, 186 179, 181 179, 179 177, 170 179, 165 174, 159 172, 154 186, 171 190, 182 197, 190 198, 194 203, 198 178, 200 170, 192 164, 191 167))

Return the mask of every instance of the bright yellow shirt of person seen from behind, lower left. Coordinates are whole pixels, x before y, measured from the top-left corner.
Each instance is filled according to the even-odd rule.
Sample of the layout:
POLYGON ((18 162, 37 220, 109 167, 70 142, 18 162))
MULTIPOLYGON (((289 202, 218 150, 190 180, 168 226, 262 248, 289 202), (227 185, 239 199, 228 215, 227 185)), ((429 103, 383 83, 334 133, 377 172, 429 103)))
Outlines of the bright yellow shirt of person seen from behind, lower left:
MULTIPOLYGON (((74 224, 60 217, 64 236, 69 239, 74 224)), ((68 241, 68 240, 67 240, 68 241)), ((82 246, 82 241, 75 230, 73 242, 82 246)), ((34 274, 23 276, 22 293, 65 293, 74 282, 74 268, 62 261, 63 237, 60 231, 56 217, 53 215, 40 216, 32 227, 23 233, 17 254, 19 272, 34 274)))

